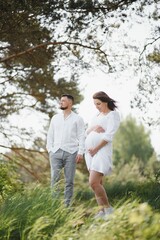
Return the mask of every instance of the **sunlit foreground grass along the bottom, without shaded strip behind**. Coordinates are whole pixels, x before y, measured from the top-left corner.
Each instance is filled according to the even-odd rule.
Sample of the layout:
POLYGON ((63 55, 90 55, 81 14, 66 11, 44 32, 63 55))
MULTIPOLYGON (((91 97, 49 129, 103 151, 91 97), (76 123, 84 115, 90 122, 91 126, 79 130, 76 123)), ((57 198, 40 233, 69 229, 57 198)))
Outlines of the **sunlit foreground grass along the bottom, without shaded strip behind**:
MULTIPOLYGON (((87 189, 84 192, 87 193, 87 189)), ((115 212, 106 221, 95 220, 96 204, 88 189, 88 200, 78 198, 66 208, 62 198, 53 199, 50 189, 36 186, 15 193, 1 204, 1 240, 158 240, 160 213, 137 198, 115 201, 115 212)))

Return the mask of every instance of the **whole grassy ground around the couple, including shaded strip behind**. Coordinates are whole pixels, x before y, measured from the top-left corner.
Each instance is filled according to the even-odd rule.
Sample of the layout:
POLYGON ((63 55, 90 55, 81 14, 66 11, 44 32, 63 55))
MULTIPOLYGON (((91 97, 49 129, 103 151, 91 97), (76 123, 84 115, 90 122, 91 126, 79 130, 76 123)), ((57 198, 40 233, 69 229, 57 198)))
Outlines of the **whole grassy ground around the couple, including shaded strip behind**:
MULTIPOLYGON (((134 178, 133 178, 134 179, 134 178)), ((95 220, 97 205, 87 177, 77 174, 71 208, 62 196, 53 199, 48 185, 38 183, 8 195, 0 204, 1 240, 158 240, 160 183, 156 179, 106 179, 114 214, 95 220)), ((63 186, 63 184, 62 184, 63 186)))

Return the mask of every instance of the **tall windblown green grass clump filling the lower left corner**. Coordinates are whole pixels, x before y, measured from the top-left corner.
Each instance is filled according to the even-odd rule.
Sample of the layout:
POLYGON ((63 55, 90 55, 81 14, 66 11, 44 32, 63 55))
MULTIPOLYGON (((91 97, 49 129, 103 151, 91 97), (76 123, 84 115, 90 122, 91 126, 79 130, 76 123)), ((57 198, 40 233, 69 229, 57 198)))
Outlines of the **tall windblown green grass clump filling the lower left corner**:
POLYGON ((49 239, 60 227, 74 223, 75 213, 68 213, 60 199, 52 199, 48 188, 37 186, 17 193, 1 206, 0 239, 49 239))

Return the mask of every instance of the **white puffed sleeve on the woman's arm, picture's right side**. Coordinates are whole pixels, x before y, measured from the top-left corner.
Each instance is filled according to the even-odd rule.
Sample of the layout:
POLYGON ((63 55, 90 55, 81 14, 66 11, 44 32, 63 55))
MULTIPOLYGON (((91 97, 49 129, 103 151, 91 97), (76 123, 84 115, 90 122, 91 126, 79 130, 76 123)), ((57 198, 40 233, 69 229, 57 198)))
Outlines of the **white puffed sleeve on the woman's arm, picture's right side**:
POLYGON ((103 133, 103 140, 107 142, 112 142, 114 134, 116 133, 120 125, 120 116, 118 112, 113 112, 109 114, 107 119, 107 129, 103 133))

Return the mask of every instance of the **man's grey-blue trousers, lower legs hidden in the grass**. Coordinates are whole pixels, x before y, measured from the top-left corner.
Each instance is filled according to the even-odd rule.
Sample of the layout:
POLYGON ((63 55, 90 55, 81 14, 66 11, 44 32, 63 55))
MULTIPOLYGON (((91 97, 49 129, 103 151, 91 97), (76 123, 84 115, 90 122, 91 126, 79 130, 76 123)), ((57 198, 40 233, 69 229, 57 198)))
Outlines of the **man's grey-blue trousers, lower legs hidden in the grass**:
MULTIPOLYGON (((51 166, 51 187, 54 189, 55 184, 60 180, 61 170, 64 168, 65 191, 64 198, 66 206, 70 205, 73 196, 74 176, 76 171, 77 152, 71 154, 59 149, 57 152, 49 153, 51 166)), ((54 189, 55 190, 55 189, 54 189)))

